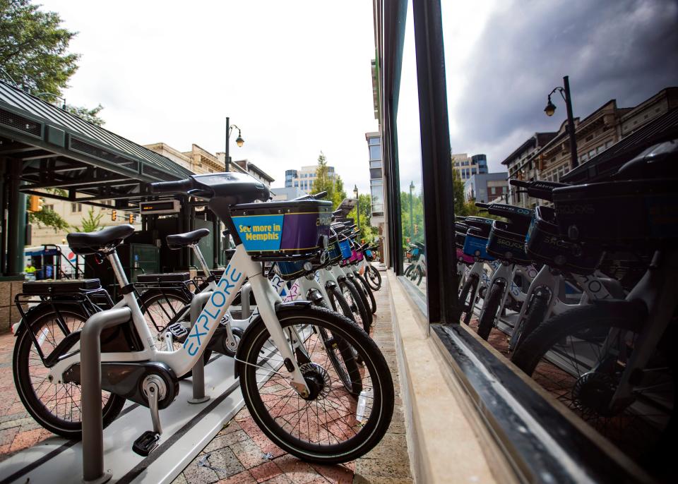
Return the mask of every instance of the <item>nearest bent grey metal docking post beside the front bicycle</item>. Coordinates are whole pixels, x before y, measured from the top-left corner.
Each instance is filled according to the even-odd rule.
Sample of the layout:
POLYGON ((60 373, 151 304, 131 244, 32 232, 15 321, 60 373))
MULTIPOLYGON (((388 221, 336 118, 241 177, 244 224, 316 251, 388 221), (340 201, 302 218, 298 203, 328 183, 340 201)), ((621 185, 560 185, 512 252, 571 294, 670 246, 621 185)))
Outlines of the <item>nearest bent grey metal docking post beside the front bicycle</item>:
POLYGON ((83 422, 83 483, 102 484, 112 475, 104 472, 104 429, 101 414, 101 332, 127 322, 129 308, 96 313, 80 335, 81 416, 83 422))

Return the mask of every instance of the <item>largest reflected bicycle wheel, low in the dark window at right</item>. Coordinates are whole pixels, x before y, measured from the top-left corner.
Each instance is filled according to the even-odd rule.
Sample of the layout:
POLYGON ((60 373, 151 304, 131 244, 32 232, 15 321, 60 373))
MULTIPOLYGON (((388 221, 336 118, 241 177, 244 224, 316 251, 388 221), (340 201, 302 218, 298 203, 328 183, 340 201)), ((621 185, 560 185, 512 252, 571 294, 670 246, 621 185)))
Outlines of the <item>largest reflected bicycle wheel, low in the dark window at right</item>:
MULTIPOLYGON (((665 429, 663 432, 660 429, 659 434, 658 432, 654 432, 653 439, 650 439, 647 436, 638 438, 634 435, 634 433, 639 430, 637 425, 632 425, 634 419, 638 418, 638 413, 636 411, 631 411, 630 405, 625 409, 617 409, 617 412, 621 412, 617 415, 601 415, 601 406, 598 401, 596 401, 596 403, 598 403, 598 409, 595 409, 597 411, 592 411, 590 400, 585 398, 587 394, 581 392, 582 387, 579 387, 579 392, 575 391, 577 383, 581 384, 586 381, 585 379, 582 379, 583 375, 588 374, 595 377, 597 374, 598 377, 600 377, 600 373, 605 373, 605 369, 600 370, 600 363, 597 363, 595 358, 589 358, 588 365, 585 365, 582 368, 579 367, 579 363, 571 367, 576 370, 576 373, 583 373, 583 375, 578 375, 578 377, 574 377, 573 375, 564 372, 560 368, 562 363, 560 363, 560 365, 552 363, 554 358, 553 355, 561 357, 564 354, 563 351, 559 351, 558 347, 562 349, 574 347, 572 346, 574 339, 584 341, 585 344, 582 345, 583 347, 588 348, 594 344, 600 344, 601 347, 605 347, 601 341, 607 341, 605 340, 605 337, 610 334, 612 329, 622 330, 622 333, 619 335, 619 340, 622 341, 622 347, 624 347, 629 344, 628 341, 634 340, 634 338, 628 337, 628 332, 636 334, 641 332, 643 322, 646 321, 647 316, 648 312, 646 305, 641 301, 593 301, 590 304, 572 308, 542 322, 542 324, 538 325, 534 331, 524 339, 523 343, 518 346, 513 353, 511 361, 528 376, 532 377, 535 382, 547 389, 547 391, 552 392, 561 403, 568 406, 569 409, 582 418, 583 421, 588 423, 588 425, 591 425, 602 435, 607 434, 605 437, 616 437, 616 439, 613 440, 614 444, 617 444, 624 452, 627 452, 627 454, 630 454, 634 458, 653 459, 653 456, 656 456, 658 453, 665 455, 667 449, 675 448, 674 445, 669 445, 669 447, 667 447, 667 441, 675 441, 676 436, 670 434, 673 433, 672 429, 677 422, 677 359, 672 353, 672 348, 664 351, 664 355, 661 355, 662 351, 657 349, 653 355, 653 358, 665 358, 668 361, 668 364, 665 365, 664 363, 666 362, 662 362, 662 364, 659 364, 658 366, 660 368, 665 368, 665 370, 668 370, 671 373, 670 376, 665 375, 665 385, 671 384, 673 386, 672 392, 660 392, 663 399, 667 399, 667 395, 670 396, 670 394, 672 394, 672 408, 670 409, 671 413, 670 416, 668 416, 665 429), (569 337, 573 339, 571 339, 568 344, 569 337), (552 356, 547 358, 547 354, 552 356), (591 369, 595 368, 595 370, 591 371, 590 368, 587 368, 588 366, 590 366, 591 369), (557 373, 558 370, 560 373, 557 373), (561 373, 568 376, 569 380, 562 377, 561 373), (545 375, 548 375, 548 377, 545 375), (549 378, 551 381, 549 381, 549 378), (572 382, 571 388, 568 387, 570 381, 572 382), (552 386, 555 384, 560 388, 553 388, 552 386), (626 421, 626 418, 631 418, 631 421, 626 421), (633 454, 635 454, 635 456, 633 454)), ((667 330, 670 330, 670 327, 667 328, 667 330)), ((612 346, 614 346, 614 342, 612 346)), ((614 351, 614 349, 611 351, 614 351)), ((633 349, 631 349, 631 352, 632 351, 633 349)), ((598 356, 597 358, 602 360, 610 358, 611 361, 617 361, 617 355, 610 357, 607 356, 607 353, 605 353, 604 356, 598 356)), ((562 358, 562 361, 565 361, 564 358, 562 358)), ((614 376, 611 381, 614 383, 614 376)), ((584 383, 584 385, 586 385, 586 383, 584 383)), ((606 382, 606 385, 609 385, 609 382, 606 382)), ((644 385, 641 385, 641 392, 644 389, 643 386, 644 385)), ((658 392, 658 387, 661 387, 661 385, 658 385, 655 380, 655 385, 650 386, 650 391, 654 389, 655 392, 658 392)), ((583 388, 585 389, 585 387, 583 388)), ((614 389, 615 387, 612 386, 610 392, 613 392, 614 389)), ((600 393, 600 389, 598 389, 597 399, 601 398, 600 393)), ((593 394, 593 392, 589 393, 589 395, 590 394, 593 394)), ((642 394, 640 394, 640 397, 642 398, 642 394)), ((635 398, 638 398, 638 394, 636 394, 635 398)), ((647 398, 647 396, 645 398, 647 398)), ((665 402, 662 406, 667 408, 667 403, 665 402)), ((656 412, 657 409, 653 408, 652 411, 656 412)), ((643 430, 646 429, 642 429, 641 431, 643 430)), ((667 462, 664 462, 663 464, 667 465, 667 462)))

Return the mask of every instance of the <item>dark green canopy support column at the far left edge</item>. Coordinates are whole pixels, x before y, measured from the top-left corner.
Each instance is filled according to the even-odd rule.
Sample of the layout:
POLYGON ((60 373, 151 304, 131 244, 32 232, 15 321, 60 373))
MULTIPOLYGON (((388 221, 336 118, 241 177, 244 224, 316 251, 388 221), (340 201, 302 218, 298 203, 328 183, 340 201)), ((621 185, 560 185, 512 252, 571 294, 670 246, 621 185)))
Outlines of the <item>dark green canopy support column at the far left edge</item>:
POLYGON ((7 274, 23 274, 23 253, 26 238, 26 195, 19 191, 23 162, 14 162, 11 167, 7 217, 7 274))

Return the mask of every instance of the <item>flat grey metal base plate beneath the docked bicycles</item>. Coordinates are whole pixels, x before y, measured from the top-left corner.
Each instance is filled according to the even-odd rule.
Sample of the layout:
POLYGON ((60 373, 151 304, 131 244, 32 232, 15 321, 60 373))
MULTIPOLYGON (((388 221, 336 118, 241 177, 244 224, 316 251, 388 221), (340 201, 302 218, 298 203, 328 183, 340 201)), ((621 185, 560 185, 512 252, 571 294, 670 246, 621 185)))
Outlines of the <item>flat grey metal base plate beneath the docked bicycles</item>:
MULTIPOLYGON (((194 298, 198 307, 191 307, 192 315, 197 317, 206 302, 205 296, 210 294, 194 298)), ((99 334, 100 330, 95 334, 95 341, 99 334)), ((306 339, 309 334, 307 328, 302 338, 306 339)), ((100 358, 97 352, 95 355, 100 358)), ((85 367, 85 352, 82 359, 85 367)), ((281 364, 270 366, 271 372, 261 375, 262 385, 281 364)), ((84 373, 83 400, 84 382, 88 381, 84 373)), ((98 404, 100 382, 95 385, 95 391, 98 404)), ((159 446, 147 457, 135 454, 132 444, 144 430, 153 428, 150 411, 128 401, 118 418, 103 430, 102 437, 100 427, 93 437, 83 436, 81 442, 55 436, 6 459, 0 470, 0 483, 171 483, 243 406, 234 358, 216 354, 204 368, 194 368, 191 378, 179 381, 179 395, 166 409, 160 410, 159 446), (89 478, 83 479, 83 475, 89 478)))

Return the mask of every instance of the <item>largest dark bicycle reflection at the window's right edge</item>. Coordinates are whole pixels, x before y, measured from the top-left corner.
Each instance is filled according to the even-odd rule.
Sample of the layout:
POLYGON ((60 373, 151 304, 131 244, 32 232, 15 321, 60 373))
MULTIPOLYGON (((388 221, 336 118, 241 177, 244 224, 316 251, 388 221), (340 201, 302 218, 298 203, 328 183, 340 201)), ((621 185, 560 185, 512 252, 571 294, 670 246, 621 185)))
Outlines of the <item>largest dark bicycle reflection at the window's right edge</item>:
POLYGON ((661 466, 671 465, 667 449, 676 444, 678 225, 670 214, 677 178, 553 190, 555 223, 566 241, 649 249, 653 257, 625 298, 590 301, 549 318, 512 358, 602 435, 661 466))

